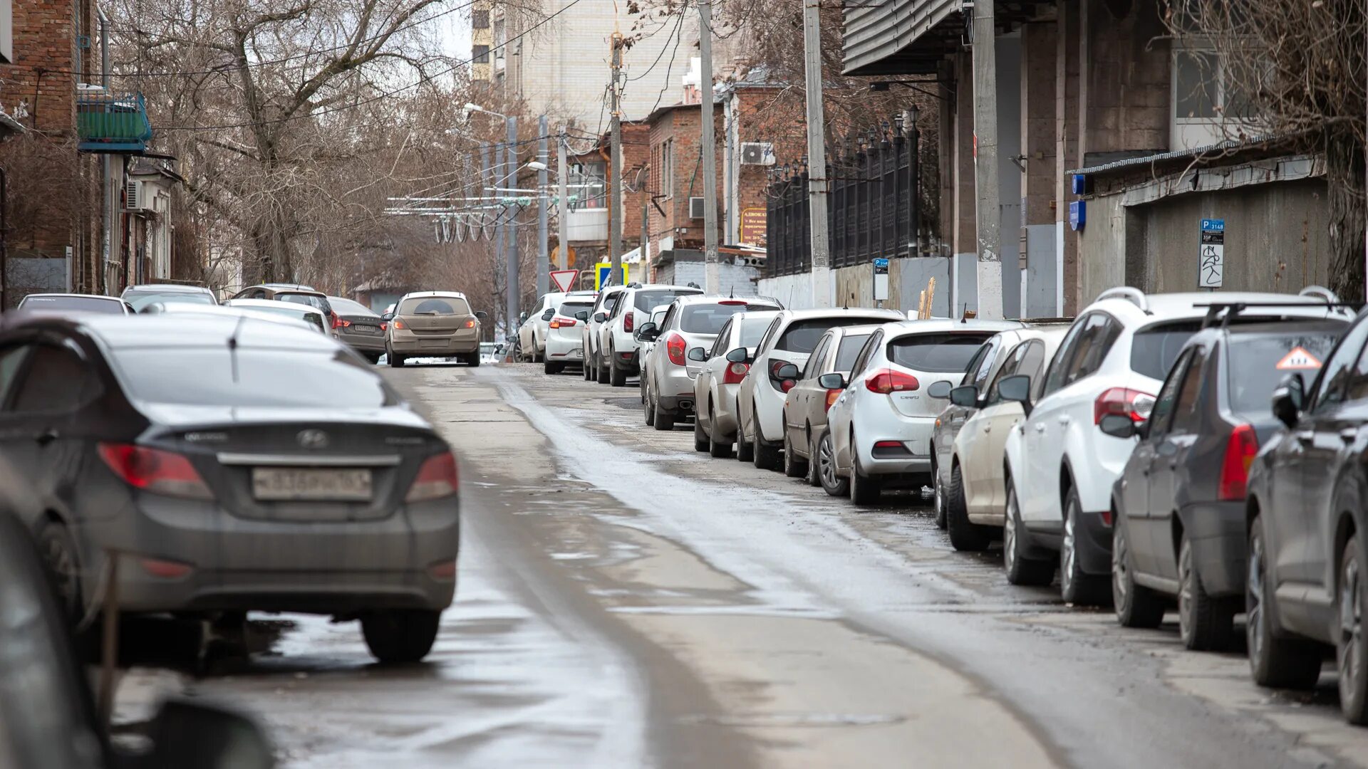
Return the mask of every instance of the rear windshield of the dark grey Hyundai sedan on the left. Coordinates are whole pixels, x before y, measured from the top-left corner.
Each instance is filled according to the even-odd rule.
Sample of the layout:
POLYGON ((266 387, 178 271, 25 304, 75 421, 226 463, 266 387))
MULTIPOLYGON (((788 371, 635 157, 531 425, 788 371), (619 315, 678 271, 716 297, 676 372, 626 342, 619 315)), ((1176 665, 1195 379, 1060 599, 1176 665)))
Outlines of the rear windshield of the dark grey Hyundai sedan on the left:
POLYGON ((129 393, 156 404, 317 406, 319 393, 339 408, 398 402, 369 365, 345 350, 124 348, 112 357, 129 393))

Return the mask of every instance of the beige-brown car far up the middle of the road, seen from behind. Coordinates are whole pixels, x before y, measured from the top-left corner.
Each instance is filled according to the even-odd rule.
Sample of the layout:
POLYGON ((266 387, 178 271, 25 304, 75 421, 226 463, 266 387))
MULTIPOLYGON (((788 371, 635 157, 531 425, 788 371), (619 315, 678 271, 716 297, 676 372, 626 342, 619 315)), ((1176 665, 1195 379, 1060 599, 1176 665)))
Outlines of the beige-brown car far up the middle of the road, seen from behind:
POLYGON ((394 315, 380 316, 389 324, 384 337, 386 360, 402 367, 412 357, 454 357, 466 365, 480 365, 480 320, 486 313, 471 309, 458 291, 413 291, 397 302, 394 315))

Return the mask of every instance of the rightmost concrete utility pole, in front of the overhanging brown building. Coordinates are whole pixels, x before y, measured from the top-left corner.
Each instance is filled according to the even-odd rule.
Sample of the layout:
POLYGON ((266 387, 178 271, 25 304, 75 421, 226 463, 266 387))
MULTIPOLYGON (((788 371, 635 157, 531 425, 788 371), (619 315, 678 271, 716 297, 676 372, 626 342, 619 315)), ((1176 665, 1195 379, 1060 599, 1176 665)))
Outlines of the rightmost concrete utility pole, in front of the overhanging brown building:
POLYGON ((997 30, 993 0, 974 4, 974 226, 978 317, 1003 316, 1003 207, 997 183, 997 30))

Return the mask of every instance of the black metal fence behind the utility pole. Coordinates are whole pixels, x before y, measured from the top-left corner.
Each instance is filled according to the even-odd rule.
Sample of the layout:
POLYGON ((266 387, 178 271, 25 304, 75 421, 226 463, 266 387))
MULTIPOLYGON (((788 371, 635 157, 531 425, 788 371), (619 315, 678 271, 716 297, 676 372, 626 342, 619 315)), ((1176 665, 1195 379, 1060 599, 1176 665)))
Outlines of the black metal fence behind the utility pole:
MULTIPOLYGON (((832 267, 914 256, 918 248, 917 131, 873 137, 829 160, 828 233, 832 267)), ((780 170, 769 186, 763 276, 811 270, 807 168, 780 170)))

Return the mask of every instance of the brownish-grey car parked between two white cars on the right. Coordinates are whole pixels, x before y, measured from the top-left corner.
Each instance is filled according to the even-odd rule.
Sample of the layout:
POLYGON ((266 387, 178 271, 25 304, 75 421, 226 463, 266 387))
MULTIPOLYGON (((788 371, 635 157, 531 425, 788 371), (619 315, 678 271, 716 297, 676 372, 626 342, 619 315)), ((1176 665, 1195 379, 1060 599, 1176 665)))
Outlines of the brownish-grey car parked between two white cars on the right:
MULTIPOLYGON (((851 365, 876 328, 878 327, 828 328, 813 348, 798 383, 784 401, 784 475, 806 476, 810 484, 822 484, 817 439, 826 430, 826 412, 845 391, 851 365)), ((832 469, 830 461, 826 469, 832 469)))

